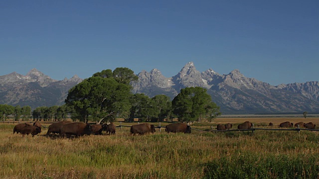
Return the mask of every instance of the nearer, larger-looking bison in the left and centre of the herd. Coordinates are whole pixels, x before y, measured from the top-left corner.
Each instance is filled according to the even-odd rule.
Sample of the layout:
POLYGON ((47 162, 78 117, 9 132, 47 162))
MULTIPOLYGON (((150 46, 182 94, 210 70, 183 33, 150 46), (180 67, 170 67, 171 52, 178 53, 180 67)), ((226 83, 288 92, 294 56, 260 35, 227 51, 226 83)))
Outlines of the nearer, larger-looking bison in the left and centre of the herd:
MULTIPOLYGON (((71 137, 73 136, 83 136, 83 135, 102 135, 102 131, 106 131, 106 134, 115 134, 116 126, 114 123, 110 124, 87 124, 84 122, 71 122, 71 121, 61 121, 57 123, 53 123, 49 125, 48 131, 46 133, 46 136, 50 135, 56 135, 59 134, 61 137, 71 137)), ((147 133, 154 133, 155 132, 155 126, 153 124, 143 123, 143 124, 136 124, 131 126, 131 135, 143 135, 147 133)), ((175 123, 175 124, 168 124, 166 126, 165 131, 167 133, 169 132, 184 132, 184 133, 190 133, 191 127, 189 125, 186 125, 184 123, 175 123)), ((34 135, 37 135, 41 132, 41 124, 36 121, 31 124, 17 124, 13 128, 13 134, 14 133, 21 133, 22 136, 25 134, 29 135, 31 134, 32 137, 34 135)))

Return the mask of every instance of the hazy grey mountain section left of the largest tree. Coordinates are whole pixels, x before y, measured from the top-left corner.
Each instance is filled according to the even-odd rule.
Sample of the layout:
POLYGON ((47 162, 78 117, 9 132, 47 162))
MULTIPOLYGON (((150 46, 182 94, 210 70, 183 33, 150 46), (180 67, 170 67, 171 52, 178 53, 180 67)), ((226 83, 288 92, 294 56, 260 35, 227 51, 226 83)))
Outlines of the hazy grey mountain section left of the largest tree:
POLYGON ((32 69, 26 76, 15 72, 0 76, 0 103, 9 105, 53 106, 64 104, 68 90, 82 82, 78 76, 53 80, 32 69))

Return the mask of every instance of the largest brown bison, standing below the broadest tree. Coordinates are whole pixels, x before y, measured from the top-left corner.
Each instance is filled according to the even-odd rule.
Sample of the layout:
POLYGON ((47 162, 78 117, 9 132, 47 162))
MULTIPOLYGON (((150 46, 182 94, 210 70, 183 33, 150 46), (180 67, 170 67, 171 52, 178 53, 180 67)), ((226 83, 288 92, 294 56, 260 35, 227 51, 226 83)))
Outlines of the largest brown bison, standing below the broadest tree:
POLYGON ((67 137, 70 135, 83 136, 92 133, 91 125, 84 122, 72 122, 60 127, 60 136, 67 137))

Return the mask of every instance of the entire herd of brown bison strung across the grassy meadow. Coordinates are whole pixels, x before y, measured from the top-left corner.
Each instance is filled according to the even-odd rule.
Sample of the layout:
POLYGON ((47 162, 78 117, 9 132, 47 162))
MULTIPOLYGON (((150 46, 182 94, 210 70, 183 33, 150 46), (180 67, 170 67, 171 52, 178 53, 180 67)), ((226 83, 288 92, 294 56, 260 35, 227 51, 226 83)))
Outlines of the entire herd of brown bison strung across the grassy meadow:
MULTIPOLYGON (((245 130, 252 128, 253 124, 249 121, 246 121, 242 124, 239 124, 237 128, 239 130, 245 130)), ((270 127, 273 127, 273 123, 269 123, 270 127)), ((281 124, 279 124, 279 127, 283 128, 289 128, 293 127, 294 124, 286 121, 281 124)), ((225 125, 218 124, 217 130, 229 130, 233 127, 231 123, 227 123, 225 125)), ((295 127, 305 127, 307 129, 315 129, 316 125, 312 122, 304 123, 304 122, 298 122, 295 124, 295 127)), ((78 137, 83 135, 102 135, 102 131, 106 131, 106 134, 115 134, 116 126, 113 123, 110 124, 87 124, 84 122, 71 122, 71 121, 61 121, 54 124, 49 125, 48 131, 46 133, 47 136, 53 134, 59 134, 61 137, 70 137, 72 135, 78 137)), ((190 133, 191 127, 189 125, 186 125, 185 123, 173 123, 168 124, 165 127, 165 131, 167 133, 169 132, 183 132, 183 133, 190 133)), ((36 121, 31 124, 17 124, 13 128, 13 134, 14 133, 21 133, 22 136, 31 134, 32 137, 34 135, 37 135, 41 132, 41 124, 36 121)), ((131 135, 144 135, 148 133, 154 133, 155 132, 155 126, 153 124, 143 123, 143 124, 136 124, 132 125, 130 129, 131 135)))

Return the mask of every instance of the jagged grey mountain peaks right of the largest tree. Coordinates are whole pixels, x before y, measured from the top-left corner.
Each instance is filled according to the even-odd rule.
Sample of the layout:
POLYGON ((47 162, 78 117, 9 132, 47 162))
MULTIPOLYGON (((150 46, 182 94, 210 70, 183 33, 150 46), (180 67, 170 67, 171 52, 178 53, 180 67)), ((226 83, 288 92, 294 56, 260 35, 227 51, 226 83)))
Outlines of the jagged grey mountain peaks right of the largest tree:
MULTIPOLYGON (((301 112, 319 109, 318 82, 272 86, 254 78, 247 78, 238 69, 226 75, 220 75, 212 69, 199 72, 192 62, 187 63, 171 78, 161 77, 161 82, 170 80, 169 86, 167 84, 157 86, 140 74, 138 76, 140 81, 133 85, 134 93, 146 93, 150 97, 165 94, 173 98, 182 88, 202 87, 207 89, 212 100, 221 107, 221 111, 227 114, 301 112)), ((148 78, 152 79, 152 74, 149 73, 148 78)))

